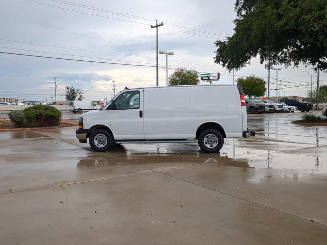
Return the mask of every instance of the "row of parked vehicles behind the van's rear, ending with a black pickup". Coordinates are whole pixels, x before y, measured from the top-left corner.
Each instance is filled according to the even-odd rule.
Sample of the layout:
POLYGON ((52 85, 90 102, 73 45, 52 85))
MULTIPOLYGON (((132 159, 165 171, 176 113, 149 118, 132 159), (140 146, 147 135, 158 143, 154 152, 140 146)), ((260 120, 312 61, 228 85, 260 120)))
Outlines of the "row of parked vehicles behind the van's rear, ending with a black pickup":
POLYGON ((285 100, 284 103, 274 103, 270 100, 251 100, 245 99, 246 110, 248 113, 273 113, 273 112, 309 112, 313 104, 300 100, 285 100))

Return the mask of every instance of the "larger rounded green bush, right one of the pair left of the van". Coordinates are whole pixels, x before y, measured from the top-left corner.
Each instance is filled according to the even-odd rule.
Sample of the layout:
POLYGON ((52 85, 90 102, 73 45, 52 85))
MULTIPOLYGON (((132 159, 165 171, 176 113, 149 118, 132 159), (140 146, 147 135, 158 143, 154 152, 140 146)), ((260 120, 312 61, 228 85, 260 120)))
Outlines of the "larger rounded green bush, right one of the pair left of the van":
POLYGON ((61 112, 53 106, 35 105, 24 109, 24 127, 59 126, 61 112))

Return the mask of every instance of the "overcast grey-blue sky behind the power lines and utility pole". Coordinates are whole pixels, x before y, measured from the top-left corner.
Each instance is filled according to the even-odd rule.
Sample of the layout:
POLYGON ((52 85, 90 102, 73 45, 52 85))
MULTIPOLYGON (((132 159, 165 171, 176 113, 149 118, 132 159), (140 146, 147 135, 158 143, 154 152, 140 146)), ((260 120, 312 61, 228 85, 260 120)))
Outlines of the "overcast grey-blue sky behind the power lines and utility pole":
MULTIPOLYGON (((232 21, 236 17, 234 2, 2 0, 0 52, 154 66, 155 29, 150 25, 158 19, 164 22, 164 26, 159 27, 159 50, 175 52, 169 56, 170 74, 174 68, 194 68, 201 73, 220 72, 221 79, 215 83, 232 83, 231 74, 214 63, 214 42, 232 35, 232 21), (72 3, 85 6, 82 8, 72 3)), ((166 66, 165 56, 159 55, 159 58, 159 66, 166 66)), ((282 82, 285 89, 281 90, 281 95, 285 91, 286 95, 301 93, 303 96, 310 90, 310 86, 287 88, 297 86, 295 83, 310 83, 310 76, 303 70, 307 70, 316 82, 312 67, 279 67, 283 69, 278 72, 278 79, 286 81, 282 82)), ((235 72, 235 79, 249 75, 267 80, 268 71, 258 59, 253 59, 250 65, 235 72)), ((109 99, 112 80, 116 81, 116 91, 126 86, 156 84, 155 67, 0 54, 0 97, 47 99, 49 102, 54 96, 54 76, 57 77, 58 94, 64 93, 65 86, 73 86, 83 90, 87 100, 109 99)), ((275 71, 271 78, 275 83, 275 71)), ((327 75, 321 74, 321 80, 326 81, 327 75)), ((166 85, 163 68, 159 68, 159 85, 166 85)), ((271 91, 271 95, 275 93, 271 91)), ((57 100, 64 100, 64 96, 58 95, 57 100)))

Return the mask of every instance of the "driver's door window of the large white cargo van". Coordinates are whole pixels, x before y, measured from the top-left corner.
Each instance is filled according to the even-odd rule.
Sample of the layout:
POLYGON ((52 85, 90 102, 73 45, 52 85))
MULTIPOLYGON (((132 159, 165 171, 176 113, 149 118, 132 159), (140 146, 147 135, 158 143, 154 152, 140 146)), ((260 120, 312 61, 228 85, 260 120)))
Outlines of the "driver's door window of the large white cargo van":
POLYGON ((138 109, 139 91, 126 91, 114 100, 116 110, 138 109))

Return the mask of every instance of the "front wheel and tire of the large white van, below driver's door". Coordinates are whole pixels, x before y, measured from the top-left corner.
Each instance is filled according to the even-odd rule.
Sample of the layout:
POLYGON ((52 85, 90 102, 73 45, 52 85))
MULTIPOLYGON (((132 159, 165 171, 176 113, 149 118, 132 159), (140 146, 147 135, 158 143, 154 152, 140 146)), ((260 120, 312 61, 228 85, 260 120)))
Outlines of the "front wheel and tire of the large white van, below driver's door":
POLYGON ((90 134, 89 144, 96 152, 106 152, 113 145, 113 138, 107 130, 96 129, 90 134), (106 144, 100 146, 102 142, 106 142, 106 144))

